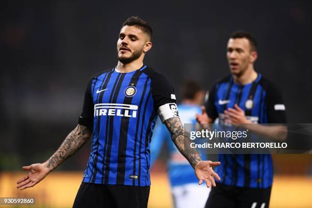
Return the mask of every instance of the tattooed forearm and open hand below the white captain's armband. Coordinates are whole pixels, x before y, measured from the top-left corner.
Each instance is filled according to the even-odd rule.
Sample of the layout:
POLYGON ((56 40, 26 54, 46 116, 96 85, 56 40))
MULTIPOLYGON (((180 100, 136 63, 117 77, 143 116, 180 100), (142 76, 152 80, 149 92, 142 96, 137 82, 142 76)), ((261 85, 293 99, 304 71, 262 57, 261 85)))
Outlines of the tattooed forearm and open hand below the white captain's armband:
POLYGON ((204 180, 207 187, 213 185, 216 186, 215 178, 220 180, 220 177, 212 169, 213 166, 220 165, 220 162, 202 161, 200 155, 195 148, 191 147, 190 134, 185 132, 185 128, 182 125, 180 118, 173 117, 164 121, 167 126, 171 139, 177 149, 183 154, 183 156, 189 161, 192 167, 195 169, 195 174, 199 180, 199 185, 204 180))

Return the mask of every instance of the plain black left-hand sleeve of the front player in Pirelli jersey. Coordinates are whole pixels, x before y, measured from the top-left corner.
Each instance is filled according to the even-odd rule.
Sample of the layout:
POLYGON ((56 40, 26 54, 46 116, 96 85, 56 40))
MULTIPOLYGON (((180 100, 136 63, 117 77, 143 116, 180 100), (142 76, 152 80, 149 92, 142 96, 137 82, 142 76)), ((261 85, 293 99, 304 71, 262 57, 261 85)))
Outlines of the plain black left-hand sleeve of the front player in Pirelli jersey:
POLYGON ((90 79, 87 85, 83 110, 78 120, 78 123, 80 125, 87 126, 89 129, 91 129, 93 126, 93 111, 94 111, 94 104, 93 104, 93 98, 92 98, 92 93, 91 93, 92 80, 93 78, 90 79))

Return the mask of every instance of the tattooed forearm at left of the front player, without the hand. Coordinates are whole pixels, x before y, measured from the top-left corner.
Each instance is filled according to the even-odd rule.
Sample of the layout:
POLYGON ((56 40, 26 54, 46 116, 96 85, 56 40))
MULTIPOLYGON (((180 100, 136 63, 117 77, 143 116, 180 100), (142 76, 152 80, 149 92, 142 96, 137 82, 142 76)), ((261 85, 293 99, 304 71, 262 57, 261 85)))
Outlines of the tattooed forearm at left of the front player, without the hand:
POLYGON ((47 161, 46 167, 50 171, 58 167, 67 158, 76 153, 89 140, 90 135, 90 130, 86 126, 78 124, 47 161))

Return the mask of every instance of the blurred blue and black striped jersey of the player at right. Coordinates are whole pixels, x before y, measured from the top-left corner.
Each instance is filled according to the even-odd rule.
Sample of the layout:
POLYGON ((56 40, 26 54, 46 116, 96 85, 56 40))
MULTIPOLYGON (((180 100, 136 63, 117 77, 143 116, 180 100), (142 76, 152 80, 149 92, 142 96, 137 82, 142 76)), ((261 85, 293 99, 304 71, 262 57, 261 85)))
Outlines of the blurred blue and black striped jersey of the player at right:
MULTIPOLYGON (((215 84, 206 103, 206 111, 217 123, 223 123, 224 110, 237 104, 254 123, 286 123, 281 92, 261 74, 246 85, 233 82, 232 76, 215 84)), ((228 186, 268 188, 272 186, 273 164, 270 154, 219 154, 216 172, 228 186)))

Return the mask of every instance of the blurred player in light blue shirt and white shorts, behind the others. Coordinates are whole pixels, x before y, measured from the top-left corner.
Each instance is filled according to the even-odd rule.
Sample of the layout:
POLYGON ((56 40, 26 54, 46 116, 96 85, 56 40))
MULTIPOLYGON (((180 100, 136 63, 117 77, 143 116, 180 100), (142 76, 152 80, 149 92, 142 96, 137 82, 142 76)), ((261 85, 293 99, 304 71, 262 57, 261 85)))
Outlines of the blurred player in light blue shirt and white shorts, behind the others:
MULTIPOLYGON (((197 82, 188 81, 184 84, 183 100, 178 105, 179 117, 183 123, 197 123, 195 115, 201 112, 200 106, 204 95, 205 92, 197 82)), ((204 207, 211 188, 207 190, 203 186, 198 186, 193 168, 171 142, 166 126, 161 123, 160 119, 157 119, 150 144, 151 167, 158 158, 164 143, 170 154, 168 176, 174 207, 204 207)))

